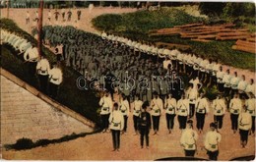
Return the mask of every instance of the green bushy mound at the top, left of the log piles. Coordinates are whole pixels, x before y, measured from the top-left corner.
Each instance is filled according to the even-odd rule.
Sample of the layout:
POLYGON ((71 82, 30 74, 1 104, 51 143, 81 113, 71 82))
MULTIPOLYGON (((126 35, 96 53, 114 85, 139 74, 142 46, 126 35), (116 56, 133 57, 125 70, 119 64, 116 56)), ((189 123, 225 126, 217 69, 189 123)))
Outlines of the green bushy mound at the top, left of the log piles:
POLYGON ((188 23, 204 21, 202 18, 192 17, 183 11, 162 8, 157 11, 137 11, 128 14, 105 14, 93 19, 93 25, 99 30, 120 32, 145 33, 150 29, 174 27, 188 23), (113 30, 114 29, 114 30, 113 30))

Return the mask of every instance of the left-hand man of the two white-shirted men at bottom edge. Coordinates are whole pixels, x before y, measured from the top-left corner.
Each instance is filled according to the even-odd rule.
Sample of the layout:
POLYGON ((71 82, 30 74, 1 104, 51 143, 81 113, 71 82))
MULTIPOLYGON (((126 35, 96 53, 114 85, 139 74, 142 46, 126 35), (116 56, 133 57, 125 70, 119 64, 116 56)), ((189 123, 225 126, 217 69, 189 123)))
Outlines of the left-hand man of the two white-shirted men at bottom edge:
POLYGON ((193 121, 187 121, 187 128, 182 132, 180 137, 180 144, 183 146, 185 151, 185 156, 194 156, 197 145, 196 140, 198 139, 198 134, 193 130, 193 121))

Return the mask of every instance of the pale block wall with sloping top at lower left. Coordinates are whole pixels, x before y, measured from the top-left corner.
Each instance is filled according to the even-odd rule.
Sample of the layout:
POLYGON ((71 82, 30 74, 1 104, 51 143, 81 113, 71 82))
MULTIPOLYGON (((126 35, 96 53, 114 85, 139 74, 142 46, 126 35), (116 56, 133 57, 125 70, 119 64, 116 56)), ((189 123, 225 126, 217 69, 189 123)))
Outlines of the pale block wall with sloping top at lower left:
POLYGON ((94 123, 1 69, 2 144, 22 137, 36 141, 93 131, 94 123))

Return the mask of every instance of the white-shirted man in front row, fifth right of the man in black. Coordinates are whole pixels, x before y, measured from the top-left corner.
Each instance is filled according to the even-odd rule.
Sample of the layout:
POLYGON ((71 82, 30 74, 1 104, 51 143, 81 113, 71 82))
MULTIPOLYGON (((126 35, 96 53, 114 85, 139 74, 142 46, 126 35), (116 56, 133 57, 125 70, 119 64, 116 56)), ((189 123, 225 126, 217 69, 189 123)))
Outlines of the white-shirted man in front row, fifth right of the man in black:
POLYGON ((219 93, 217 98, 213 101, 214 120, 218 129, 223 128, 224 113, 226 110, 226 104, 222 93, 219 93))

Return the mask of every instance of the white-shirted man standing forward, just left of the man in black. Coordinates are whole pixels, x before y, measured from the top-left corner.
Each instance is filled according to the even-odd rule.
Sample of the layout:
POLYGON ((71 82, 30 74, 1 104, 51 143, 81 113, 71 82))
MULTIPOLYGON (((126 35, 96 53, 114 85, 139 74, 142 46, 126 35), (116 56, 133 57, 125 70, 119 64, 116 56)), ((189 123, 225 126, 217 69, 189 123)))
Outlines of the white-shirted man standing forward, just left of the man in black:
POLYGON ((118 110, 118 104, 114 103, 113 112, 111 112, 108 122, 110 124, 109 129, 112 133, 113 150, 119 151, 120 149, 120 132, 124 128, 124 118, 122 113, 118 110))

